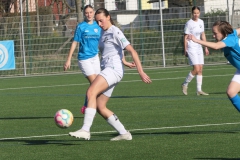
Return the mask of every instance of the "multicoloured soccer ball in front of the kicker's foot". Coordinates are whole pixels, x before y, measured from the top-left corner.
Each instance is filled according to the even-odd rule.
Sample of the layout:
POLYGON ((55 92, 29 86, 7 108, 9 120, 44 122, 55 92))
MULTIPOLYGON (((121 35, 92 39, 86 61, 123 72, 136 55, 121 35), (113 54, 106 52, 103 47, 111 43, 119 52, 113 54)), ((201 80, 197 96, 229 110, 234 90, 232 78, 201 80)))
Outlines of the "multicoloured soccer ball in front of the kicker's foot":
POLYGON ((68 128, 73 123, 73 114, 67 109, 61 109, 54 116, 55 123, 60 128, 68 128))

